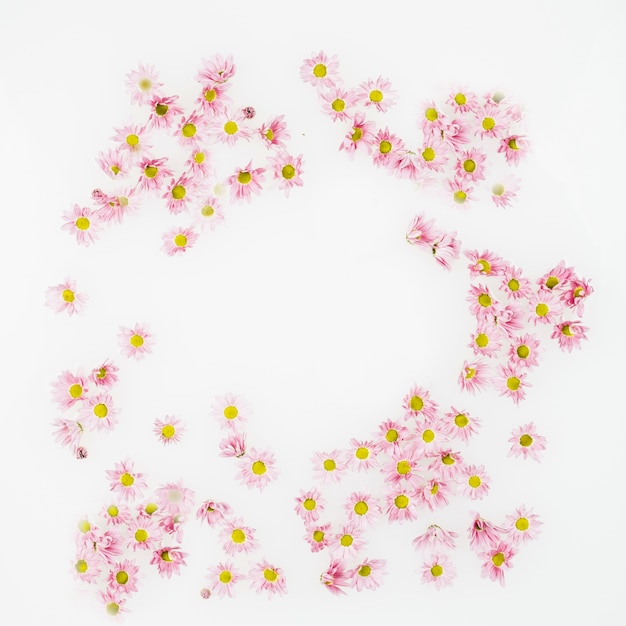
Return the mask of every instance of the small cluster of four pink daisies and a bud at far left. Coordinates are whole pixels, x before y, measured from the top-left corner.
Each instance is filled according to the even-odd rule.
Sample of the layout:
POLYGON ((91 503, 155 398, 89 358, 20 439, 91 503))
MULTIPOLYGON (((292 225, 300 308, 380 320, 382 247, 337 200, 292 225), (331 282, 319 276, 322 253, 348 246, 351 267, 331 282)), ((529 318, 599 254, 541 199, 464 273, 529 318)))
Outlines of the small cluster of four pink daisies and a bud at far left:
POLYGON ((52 422, 53 434, 79 459, 87 456, 82 445, 85 431, 110 431, 117 424, 119 409, 111 395, 117 372, 117 366, 107 359, 88 375, 66 370, 52 383, 53 402, 64 413, 52 422))

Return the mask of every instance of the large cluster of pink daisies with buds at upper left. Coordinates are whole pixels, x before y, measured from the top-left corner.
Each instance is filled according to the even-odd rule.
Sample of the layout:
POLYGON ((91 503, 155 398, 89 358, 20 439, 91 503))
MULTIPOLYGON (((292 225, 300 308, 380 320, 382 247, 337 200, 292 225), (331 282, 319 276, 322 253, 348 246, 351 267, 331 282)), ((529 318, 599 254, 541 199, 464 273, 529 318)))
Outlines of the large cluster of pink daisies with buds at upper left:
POLYGON ((193 216, 191 223, 174 226, 162 236, 161 249, 174 256, 196 243, 200 228, 208 225, 213 230, 223 221, 218 196, 224 186, 230 189, 232 202, 250 201, 270 176, 286 195, 302 186, 302 155, 288 150, 290 135, 284 115, 261 124, 252 122, 254 108, 237 107, 230 97, 235 73, 230 56, 218 54, 204 60, 196 76, 195 106, 185 110, 178 96, 163 90, 154 67, 139 65, 130 72, 126 87, 140 113, 134 121, 114 129, 112 145, 97 158, 104 174, 119 186, 94 189, 91 204, 95 208, 74 204, 63 215, 63 230, 88 246, 103 226, 121 223, 143 200, 157 197, 171 215, 193 216), (222 177, 214 150, 244 145, 247 150, 238 155, 242 165, 222 177), (258 165, 253 165, 255 160, 258 165), (178 162, 184 165, 177 167, 178 162))

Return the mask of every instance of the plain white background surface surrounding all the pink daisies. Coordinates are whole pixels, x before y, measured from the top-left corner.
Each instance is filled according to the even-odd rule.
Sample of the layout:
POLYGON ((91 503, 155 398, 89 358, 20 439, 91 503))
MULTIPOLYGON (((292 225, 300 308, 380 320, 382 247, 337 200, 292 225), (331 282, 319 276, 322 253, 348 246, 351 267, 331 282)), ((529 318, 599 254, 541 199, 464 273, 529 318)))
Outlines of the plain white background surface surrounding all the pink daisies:
MULTIPOLYGON (((480 624, 605 623, 623 614, 624 8, 618 1, 175 3, 23 2, 1 9, 0 157, 4 349, 2 376, 3 609, 12 624, 107 623, 91 590, 71 578, 76 520, 108 499, 104 470, 130 457, 156 487, 183 479, 197 498, 226 500, 258 531, 259 556, 285 568, 289 594, 269 603, 243 590, 232 601, 199 596, 206 568, 221 559, 215 535, 190 522, 189 567, 146 576, 128 624, 229 619, 480 624), (416 143, 426 99, 467 85, 498 88, 527 111, 533 151, 520 201, 481 202, 464 212, 337 151, 338 127, 299 77, 302 60, 337 54, 346 82, 378 75, 398 92, 394 129, 416 143), (96 246, 60 230, 71 204, 106 180, 94 157, 131 111, 125 74, 154 64, 169 93, 189 106, 201 59, 233 54, 233 96, 262 120, 284 113, 305 186, 287 200, 268 190, 228 209, 183 258, 159 251, 173 223, 144 206, 96 246), (492 249, 531 277, 564 259, 595 288, 584 323, 589 342, 571 355, 555 346, 519 407, 495 392, 461 394, 456 375, 472 330, 459 261, 446 273, 404 242, 426 211, 459 231, 464 248, 492 249), (75 277, 90 300, 80 317, 43 306, 48 285, 75 277), (118 353, 118 326, 147 322, 154 354, 118 353), (49 385, 65 369, 120 363, 120 424, 94 437, 79 462, 54 443, 49 385), (468 449, 493 479, 486 500, 457 503, 442 523, 463 541, 455 584, 420 582, 408 543, 426 524, 381 524, 369 556, 389 575, 375 593, 335 598, 319 584, 293 513, 313 485, 309 458, 365 437, 400 417, 413 383, 440 405, 462 406, 484 428, 468 449), (254 408, 249 439, 270 447, 281 475, 262 495, 232 479, 217 457, 213 398, 239 392, 254 408), (155 417, 188 425, 163 449, 155 417), (534 421, 549 440, 541 464, 507 458, 507 438, 534 421), (465 543, 470 510, 500 521, 522 502, 544 522, 507 584, 480 578, 465 543), (622 583, 620 585, 619 583, 622 583)), ((391 125, 391 121, 390 121, 391 125)), ((430 518, 428 518, 430 519, 430 518)))

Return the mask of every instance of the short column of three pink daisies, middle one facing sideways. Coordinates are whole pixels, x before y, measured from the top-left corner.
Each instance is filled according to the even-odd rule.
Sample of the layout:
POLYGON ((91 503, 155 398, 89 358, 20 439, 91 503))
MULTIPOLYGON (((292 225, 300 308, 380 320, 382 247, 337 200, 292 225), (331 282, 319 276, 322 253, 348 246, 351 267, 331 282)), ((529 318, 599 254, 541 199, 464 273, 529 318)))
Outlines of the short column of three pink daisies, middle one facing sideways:
POLYGON ((246 431, 242 427, 252 411, 244 398, 232 393, 215 398, 211 413, 220 428, 227 431, 220 441, 220 456, 234 458, 237 463, 237 479, 248 488, 258 487, 262 491, 276 479, 276 460, 269 450, 248 446, 246 431))

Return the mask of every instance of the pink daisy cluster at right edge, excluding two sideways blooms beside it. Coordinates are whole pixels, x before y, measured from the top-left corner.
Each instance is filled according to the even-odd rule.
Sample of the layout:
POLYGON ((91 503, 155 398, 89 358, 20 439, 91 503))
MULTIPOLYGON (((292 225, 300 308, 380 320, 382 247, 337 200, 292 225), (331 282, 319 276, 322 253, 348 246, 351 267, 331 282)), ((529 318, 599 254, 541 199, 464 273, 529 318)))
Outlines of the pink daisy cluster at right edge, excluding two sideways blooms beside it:
POLYGON ((533 283, 489 250, 468 250, 465 256, 474 280, 467 301, 476 329, 459 385, 470 393, 492 386, 517 404, 530 386, 528 375, 539 365, 545 339, 567 352, 587 339, 589 329, 580 318, 593 287, 564 261, 533 283))

